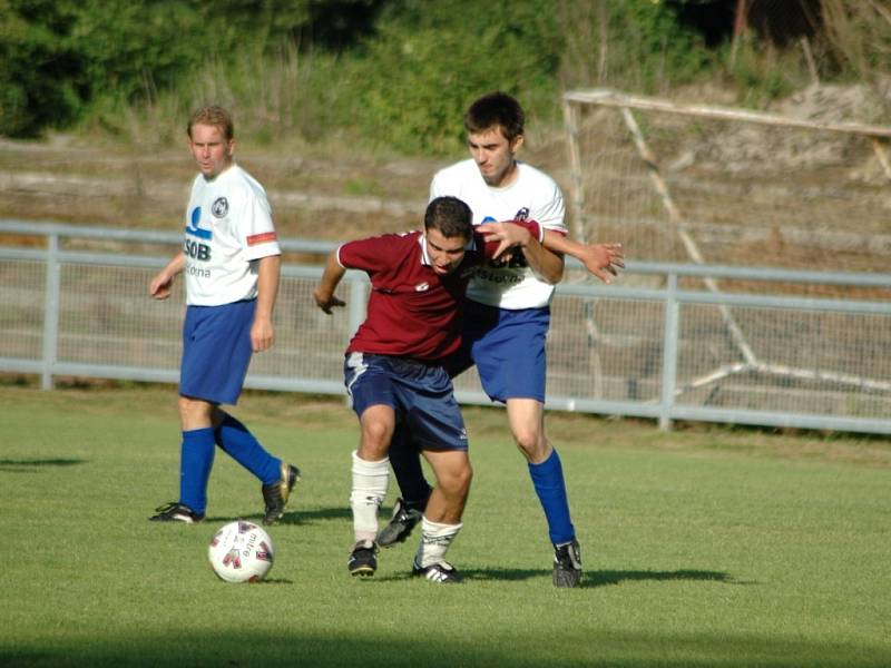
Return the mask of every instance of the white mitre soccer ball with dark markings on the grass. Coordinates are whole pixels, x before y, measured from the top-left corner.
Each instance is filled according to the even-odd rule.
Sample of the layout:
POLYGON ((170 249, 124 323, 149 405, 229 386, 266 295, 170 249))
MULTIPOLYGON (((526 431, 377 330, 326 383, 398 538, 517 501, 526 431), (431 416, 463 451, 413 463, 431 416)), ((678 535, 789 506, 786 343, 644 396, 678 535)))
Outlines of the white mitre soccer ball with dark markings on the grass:
POLYGON ((270 534, 245 520, 221 528, 207 548, 210 567, 226 582, 258 582, 270 572, 273 554, 270 534))

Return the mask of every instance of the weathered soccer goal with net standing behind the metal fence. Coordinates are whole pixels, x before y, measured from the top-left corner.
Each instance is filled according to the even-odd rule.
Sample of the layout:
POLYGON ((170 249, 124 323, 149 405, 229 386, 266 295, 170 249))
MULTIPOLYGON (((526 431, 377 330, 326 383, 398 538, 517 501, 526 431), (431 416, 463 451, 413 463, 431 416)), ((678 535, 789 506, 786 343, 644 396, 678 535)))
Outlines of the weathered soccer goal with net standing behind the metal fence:
MULTIPOLYGON (((795 114, 567 92, 572 234, 620 242, 631 263, 826 276, 825 283, 786 281, 782 272, 766 279, 764 273, 688 277, 681 289, 891 302, 889 282, 851 286, 831 276, 891 266, 891 128, 848 121, 863 111, 852 108, 862 100, 832 92, 807 91, 795 114)), ((572 277, 590 279, 581 272, 572 277)), ((665 275, 627 272, 619 284, 662 287, 665 275)), ((596 381, 603 395, 655 400, 665 345, 660 307, 639 306, 648 317, 619 323, 613 315, 629 312, 628 303, 595 302, 585 307, 586 335, 591 367, 605 374, 596 381)), ((884 314, 715 302, 682 304, 678 322, 677 404, 858 418, 891 410, 884 314)))

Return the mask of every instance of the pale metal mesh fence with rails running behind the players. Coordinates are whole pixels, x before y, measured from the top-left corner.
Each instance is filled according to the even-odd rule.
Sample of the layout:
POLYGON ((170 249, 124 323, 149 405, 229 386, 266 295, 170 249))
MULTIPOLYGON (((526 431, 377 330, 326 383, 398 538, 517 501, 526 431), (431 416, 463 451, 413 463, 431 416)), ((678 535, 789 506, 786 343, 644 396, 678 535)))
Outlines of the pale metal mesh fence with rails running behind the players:
MULTIPOLYGON (((178 380, 182 291, 149 298, 177 233, 0 222, 0 372, 178 380), (11 243, 14 239, 16 243, 11 243)), ((342 358, 368 282, 347 273, 347 307, 325 315, 319 266, 284 240, 276 343, 247 386, 343 393, 342 358)), ((630 262, 611 286, 568 272, 552 304, 548 406, 674 420, 891 433, 891 275, 630 262), (721 291, 714 282, 721 281, 721 291), (802 287, 804 286, 804 287, 802 287), (811 296, 821 286, 833 298, 811 296), (839 296, 841 295, 841 296, 839 296)), ((488 404, 474 372, 459 400, 488 404)))

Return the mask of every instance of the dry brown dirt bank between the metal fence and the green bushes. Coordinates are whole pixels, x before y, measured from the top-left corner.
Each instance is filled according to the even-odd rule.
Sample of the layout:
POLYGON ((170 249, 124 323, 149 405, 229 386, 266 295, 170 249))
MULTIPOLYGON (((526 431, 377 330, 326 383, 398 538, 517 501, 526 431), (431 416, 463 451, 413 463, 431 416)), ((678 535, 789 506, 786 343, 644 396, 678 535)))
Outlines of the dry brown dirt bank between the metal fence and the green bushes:
MULTIPOLYGON (((770 111, 814 121, 881 124, 887 117, 883 109, 891 109, 891 95, 885 97, 877 98, 859 86, 812 87, 776 102, 770 111)), ((681 91, 676 98, 727 101, 707 90, 681 91)), ((603 125, 597 117, 594 120, 603 125)), ((663 174, 705 262, 888 271, 891 167, 883 170, 868 144, 860 156, 850 141, 834 135, 816 140, 781 131, 777 140, 775 132, 752 126, 707 132, 705 125, 695 122, 686 126, 684 131, 693 131, 685 135, 677 124, 659 131, 655 119, 646 120, 663 174)), ((520 157, 557 179, 571 218, 566 135, 560 128, 531 130, 520 157)), ((618 124, 610 132, 627 149, 627 129, 618 124)), ((628 161, 610 163, 595 150, 587 153, 593 164, 582 167, 585 178, 599 179, 589 188, 588 199, 608 190, 613 181, 631 183, 628 190, 609 190, 599 204, 589 203, 600 228, 588 236, 621 242, 629 259, 689 262, 679 236, 665 224, 664 207, 639 156, 631 151, 628 161), (635 209, 637 190, 647 199, 635 209), (655 224, 640 227, 639 220, 646 218, 655 224), (609 220, 611 226, 604 223, 609 220), (653 235, 665 236, 667 243, 649 247, 653 235)), ((327 154, 321 149, 298 154, 243 141, 236 157, 266 187, 281 237, 334 242, 418 227, 433 173, 462 155, 375 158, 349 146, 327 154)), ((0 219, 173 232, 180 228, 194 174, 185 143, 148 149, 97 147, 67 136, 42 143, 0 138, 0 219)), ((0 242, 43 243, 18 236, 0 242)))

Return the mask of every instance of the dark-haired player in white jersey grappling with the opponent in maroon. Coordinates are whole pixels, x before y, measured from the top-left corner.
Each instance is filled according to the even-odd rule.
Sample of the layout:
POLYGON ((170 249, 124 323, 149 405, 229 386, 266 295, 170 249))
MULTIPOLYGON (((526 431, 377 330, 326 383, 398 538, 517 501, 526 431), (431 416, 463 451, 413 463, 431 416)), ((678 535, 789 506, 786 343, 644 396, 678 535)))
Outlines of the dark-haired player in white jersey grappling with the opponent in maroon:
MULTIPOLYGON (((550 324, 554 286, 564 272, 562 253, 571 254, 605 282, 623 256, 617 244, 582 245, 566 238, 564 199, 544 171, 516 158, 523 144, 525 115, 519 102, 503 92, 474 101, 464 116, 471 158, 439 171, 430 197, 464 200, 473 224, 490 239, 512 246, 509 261, 490 262, 478 271, 467 293, 462 346, 447 363, 451 375, 476 364, 490 399, 507 405, 513 439, 526 456, 529 474, 548 522, 554 544, 552 581, 577 587, 581 558, 569 514, 566 483, 557 451, 545 434, 545 343, 550 324), (539 243, 508 220, 535 220, 546 230, 539 243)), ((429 485, 423 479, 410 434, 394 438, 390 461, 402 492, 393 518, 379 543, 401 542, 418 522, 429 485)))

